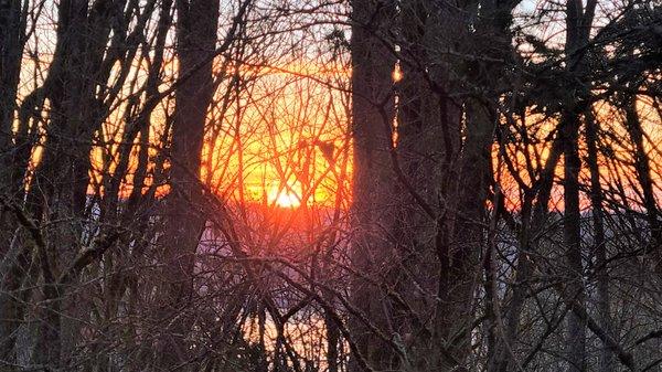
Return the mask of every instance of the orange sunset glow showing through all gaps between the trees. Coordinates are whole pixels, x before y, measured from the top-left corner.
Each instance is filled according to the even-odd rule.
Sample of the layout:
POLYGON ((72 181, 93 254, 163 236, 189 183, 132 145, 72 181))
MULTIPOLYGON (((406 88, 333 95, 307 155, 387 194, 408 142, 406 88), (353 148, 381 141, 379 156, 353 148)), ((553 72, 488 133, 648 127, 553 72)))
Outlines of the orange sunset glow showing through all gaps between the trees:
MULTIPOLYGON (((175 71, 177 61, 170 61, 167 66, 168 71, 175 71)), ((346 81, 351 70, 340 64, 327 65, 316 62, 290 62, 279 67, 222 66, 238 68, 246 75, 246 79, 255 78, 256 83, 246 96, 238 97, 226 107, 214 106, 210 110, 203 160, 199 170, 205 187, 237 205, 268 203, 275 208, 297 209, 302 204, 332 206, 340 200, 340 208, 349 208, 352 198, 349 129, 351 117, 348 115, 351 100, 346 92, 330 88, 323 82, 346 81), (307 76, 314 76, 314 79, 307 76), (221 110, 222 107, 225 110, 221 110)), ((137 65, 136 68, 138 71, 147 67, 137 65)), ((404 72, 399 64, 394 66, 391 77, 394 83, 403 79, 404 72)), ((215 102, 224 99, 226 88, 224 85, 218 87, 215 102)), ((103 193, 106 185, 104 177, 116 171, 126 107, 122 104, 115 108, 99 131, 99 145, 92 149, 92 181, 88 188, 90 194, 103 193)), ((45 110, 49 108, 46 100, 45 110)), ((596 103, 595 109, 602 123, 602 129, 617 139, 607 139, 611 141, 613 159, 605 153, 598 159, 602 183, 608 185, 634 180, 634 159, 623 118, 619 116, 621 113, 605 102, 596 103)), ((146 141, 150 146, 150 161, 159 158, 159 151, 163 147, 161 141, 167 137, 163 135, 163 123, 167 117, 172 116, 173 110, 174 100, 164 99, 150 117, 151 127, 146 141)), ((639 97, 637 110, 644 129, 644 147, 651 157, 651 177, 655 184, 660 184, 662 166, 658 158, 659 149, 655 147, 655 144, 662 140, 662 136, 655 130, 660 116, 653 103, 645 97, 639 97)), ((534 138, 552 138, 552 132, 557 127, 556 118, 547 118, 534 111, 525 113, 524 117, 515 116, 514 119, 525 120, 526 128, 534 138)), ((393 120, 393 126, 397 127, 397 116, 393 120)), ((15 128, 18 121, 14 130, 15 128)), ((136 138, 134 141, 127 174, 124 176, 118 190, 122 199, 130 194, 134 173, 138 168, 141 140, 136 138)), ((397 144, 397 131, 393 132, 393 142, 397 144)), ((551 140, 528 145, 495 144, 492 152, 493 167, 509 209, 517 210, 523 203, 523 194, 516 179, 530 188, 533 187, 534 179, 540 176, 538 169, 548 157, 551 146, 551 140), (504 156, 511 160, 512 170, 502 162, 504 156), (514 174, 511 174, 511 171, 514 174)), ((39 163, 42 150, 41 145, 33 149, 32 164, 39 163)), ((585 153, 586 149, 581 148, 581 151, 585 153)), ((169 163, 166 162, 163 167, 168 169, 169 163)), ((148 166, 147 178, 141 184, 145 191, 156 184, 154 171, 156 163, 151 162, 148 166)), ((584 184, 589 184, 588 169, 584 168, 580 177, 584 184)), ((552 210, 563 210, 562 180, 563 157, 555 170, 555 185, 549 201, 552 210)), ((29 181, 30 176, 26 179, 28 183, 29 181)), ((167 194, 169 187, 163 184, 163 180, 157 181, 157 195, 167 194)), ((588 198, 583 200, 583 206, 590 208, 588 198)))

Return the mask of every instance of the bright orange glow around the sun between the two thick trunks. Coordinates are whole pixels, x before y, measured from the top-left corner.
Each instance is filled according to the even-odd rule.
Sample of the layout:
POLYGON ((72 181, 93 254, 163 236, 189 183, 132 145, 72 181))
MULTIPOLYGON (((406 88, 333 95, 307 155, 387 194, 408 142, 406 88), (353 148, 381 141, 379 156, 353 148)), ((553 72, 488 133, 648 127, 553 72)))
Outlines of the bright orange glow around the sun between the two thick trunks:
MULTIPOLYGON (((203 182, 238 205, 331 206, 337 195, 346 205, 348 96, 306 77, 338 75, 344 81, 349 73, 341 67, 293 63, 242 71, 259 78, 249 96, 223 113, 211 113, 202 151, 203 182)), ((224 92, 221 87, 217 100, 224 92)))

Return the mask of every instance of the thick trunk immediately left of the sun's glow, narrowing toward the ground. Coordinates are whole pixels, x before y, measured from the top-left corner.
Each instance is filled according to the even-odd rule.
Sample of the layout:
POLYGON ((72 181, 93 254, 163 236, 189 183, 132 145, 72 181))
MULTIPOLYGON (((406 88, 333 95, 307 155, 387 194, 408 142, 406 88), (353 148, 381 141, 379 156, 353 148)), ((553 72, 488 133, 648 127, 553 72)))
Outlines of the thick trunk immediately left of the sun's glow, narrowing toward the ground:
POLYGON ((159 347, 158 364, 162 368, 173 368, 190 359, 184 339, 191 323, 183 312, 192 296, 194 255, 205 224, 200 212, 199 172, 206 114, 214 93, 211 56, 215 53, 218 22, 215 0, 179 0, 175 7, 179 76, 185 79, 175 92, 171 189, 166 201, 162 240, 161 320, 169 325, 159 347))

